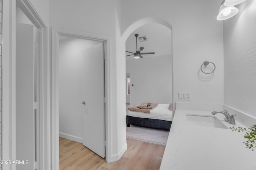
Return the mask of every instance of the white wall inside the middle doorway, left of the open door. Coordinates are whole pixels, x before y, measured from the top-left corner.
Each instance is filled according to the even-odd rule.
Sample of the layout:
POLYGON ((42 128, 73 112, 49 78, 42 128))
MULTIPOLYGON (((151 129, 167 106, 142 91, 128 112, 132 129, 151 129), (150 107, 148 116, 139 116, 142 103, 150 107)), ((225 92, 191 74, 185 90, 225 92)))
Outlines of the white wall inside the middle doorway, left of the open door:
POLYGON ((82 143, 83 114, 80 109, 84 78, 82 56, 98 41, 67 38, 60 41, 59 51, 59 127, 60 137, 82 143), (80 102, 77 102, 80 101, 80 102), (73 101, 76 101, 74 103, 73 101), (76 105, 77 104, 77 105, 76 105))

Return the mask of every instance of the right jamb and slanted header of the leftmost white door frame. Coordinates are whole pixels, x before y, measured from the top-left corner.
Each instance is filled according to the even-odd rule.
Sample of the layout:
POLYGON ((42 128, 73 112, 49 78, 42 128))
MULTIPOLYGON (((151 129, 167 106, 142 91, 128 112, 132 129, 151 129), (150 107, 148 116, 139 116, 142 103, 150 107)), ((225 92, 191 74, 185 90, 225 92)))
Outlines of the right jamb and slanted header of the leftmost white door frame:
POLYGON ((39 29, 39 40, 38 40, 38 50, 39 50, 39 94, 38 94, 38 115, 39 115, 39 167, 40 169, 50 169, 49 158, 50 158, 50 110, 49 110, 49 86, 48 86, 48 34, 47 26, 38 15, 38 12, 34 9, 29 0, 16 0, 19 8, 24 12, 28 19, 34 24, 35 27, 39 29))

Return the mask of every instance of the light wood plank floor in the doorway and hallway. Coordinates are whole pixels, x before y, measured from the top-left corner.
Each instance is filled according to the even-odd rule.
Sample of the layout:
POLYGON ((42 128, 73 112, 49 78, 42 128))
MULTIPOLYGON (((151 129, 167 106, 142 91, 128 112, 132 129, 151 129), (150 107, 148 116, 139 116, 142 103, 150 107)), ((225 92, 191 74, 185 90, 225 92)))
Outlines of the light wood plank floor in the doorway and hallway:
POLYGON ((107 163, 90 149, 60 137, 60 170, 159 170, 165 146, 127 139, 120 160, 107 163))

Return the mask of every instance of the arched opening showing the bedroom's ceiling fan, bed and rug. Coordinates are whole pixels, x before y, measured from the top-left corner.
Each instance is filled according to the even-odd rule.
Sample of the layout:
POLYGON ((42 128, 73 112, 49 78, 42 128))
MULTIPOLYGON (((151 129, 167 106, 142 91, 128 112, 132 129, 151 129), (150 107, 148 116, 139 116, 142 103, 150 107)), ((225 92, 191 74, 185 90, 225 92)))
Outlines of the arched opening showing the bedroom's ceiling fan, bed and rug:
POLYGON ((148 23, 142 25, 132 31, 126 39, 127 138, 151 141, 158 143, 159 145, 164 145, 167 141, 169 131, 159 130, 159 128, 170 129, 172 108, 169 109, 169 106, 172 106, 172 97, 172 31, 170 27, 159 23, 148 23), (138 34, 137 41, 136 34, 138 34), (143 51, 141 52, 142 57, 136 59, 136 56, 132 55, 130 52, 134 52, 136 49, 140 49, 140 47, 143 47, 143 51), (130 98, 130 105, 127 104, 128 73, 132 74, 132 79, 130 79, 130 95, 132 95, 132 98, 130 98), (156 118, 150 117, 150 115, 153 115, 152 113, 137 113, 137 111, 132 111, 136 109, 136 106, 145 103, 157 104, 157 109, 159 107, 164 107, 167 111, 166 113, 168 113, 168 117, 156 118), (128 111, 128 107, 131 107, 131 111, 128 111), (150 121, 146 123, 150 125, 138 123, 141 121, 146 122, 146 119, 144 118, 147 120, 150 119, 150 121), (158 122, 158 120, 160 121, 158 122), (162 121, 168 121, 167 125, 164 125, 163 127, 152 125, 154 123, 162 124, 162 121), (140 137, 136 136, 136 133, 134 132, 137 134, 140 132, 140 137), (158 137, 154 138, 156 136, 158 137))

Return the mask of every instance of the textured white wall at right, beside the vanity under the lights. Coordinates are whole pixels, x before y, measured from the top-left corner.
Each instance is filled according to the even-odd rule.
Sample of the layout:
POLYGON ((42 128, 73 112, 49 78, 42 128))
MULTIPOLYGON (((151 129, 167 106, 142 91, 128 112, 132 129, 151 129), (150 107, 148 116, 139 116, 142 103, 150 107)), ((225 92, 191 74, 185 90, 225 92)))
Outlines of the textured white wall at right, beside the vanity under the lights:
POLYGON ((224 104, 256 117, 256 1, 224 21, 224 104))

